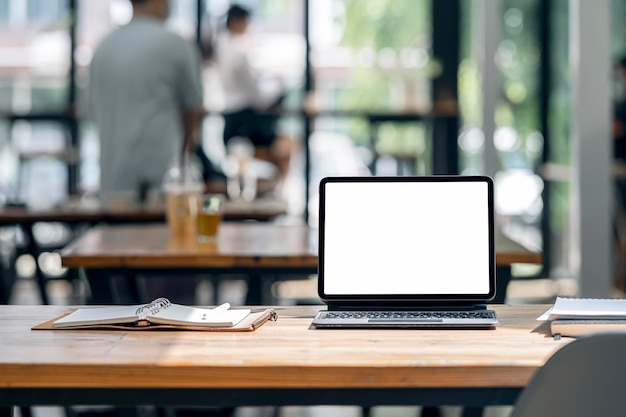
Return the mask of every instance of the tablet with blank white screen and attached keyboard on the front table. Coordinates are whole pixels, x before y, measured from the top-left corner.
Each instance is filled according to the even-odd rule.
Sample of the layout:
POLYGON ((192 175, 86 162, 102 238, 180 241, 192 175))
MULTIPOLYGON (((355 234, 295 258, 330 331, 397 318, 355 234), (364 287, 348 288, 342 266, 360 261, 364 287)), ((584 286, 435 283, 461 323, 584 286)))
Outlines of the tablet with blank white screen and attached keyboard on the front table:
POLYGON ((324 178, 313 326, 496 326, 493 204, 485 176, 324 178))

